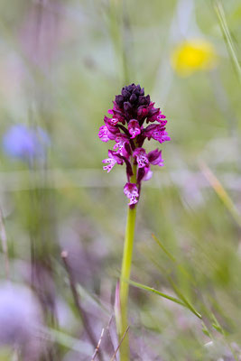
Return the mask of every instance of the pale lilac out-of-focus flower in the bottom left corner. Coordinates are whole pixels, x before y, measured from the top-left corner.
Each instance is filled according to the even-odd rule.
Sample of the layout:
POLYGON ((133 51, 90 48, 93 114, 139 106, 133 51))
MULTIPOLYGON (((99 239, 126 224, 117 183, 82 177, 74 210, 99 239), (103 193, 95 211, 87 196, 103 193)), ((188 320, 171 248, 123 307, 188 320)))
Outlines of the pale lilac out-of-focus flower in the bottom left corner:
POLYGON ((37 360, 42 352, 39 329, 42 310, 31 290, 10 282, 0 283, 0 346, 18 347, 23 359, 37 360))

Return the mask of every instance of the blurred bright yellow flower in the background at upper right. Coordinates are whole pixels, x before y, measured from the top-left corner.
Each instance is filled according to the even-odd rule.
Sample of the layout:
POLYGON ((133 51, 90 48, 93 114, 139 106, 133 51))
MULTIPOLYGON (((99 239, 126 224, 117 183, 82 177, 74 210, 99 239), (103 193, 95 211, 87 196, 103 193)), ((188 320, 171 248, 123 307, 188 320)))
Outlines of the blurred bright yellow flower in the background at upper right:
POLYGON ((182 77, 197 70, 213 69, 216 64, 214 46, 200 39, 181 42, 171 53, 171 66, 182 77))

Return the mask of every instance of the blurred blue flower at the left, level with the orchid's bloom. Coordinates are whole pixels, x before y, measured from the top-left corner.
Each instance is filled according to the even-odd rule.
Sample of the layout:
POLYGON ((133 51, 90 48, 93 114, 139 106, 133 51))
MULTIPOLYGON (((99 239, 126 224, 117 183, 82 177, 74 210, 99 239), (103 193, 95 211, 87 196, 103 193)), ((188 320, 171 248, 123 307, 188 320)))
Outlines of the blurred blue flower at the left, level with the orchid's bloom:
POLYGON ((50 137, 41 127, 30 129, 25 125, 13 125, 3 137, 4 152, 23 161, 44 157, 48 146, 50 137))

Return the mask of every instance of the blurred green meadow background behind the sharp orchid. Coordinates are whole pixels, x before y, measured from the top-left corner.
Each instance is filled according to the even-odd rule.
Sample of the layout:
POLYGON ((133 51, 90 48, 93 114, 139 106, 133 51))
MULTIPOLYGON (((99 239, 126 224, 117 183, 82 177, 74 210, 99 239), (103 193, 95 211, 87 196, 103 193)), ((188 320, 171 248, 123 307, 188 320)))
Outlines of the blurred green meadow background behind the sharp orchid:
POLYGON ((171 142, 138 204, 132 279, 188 300, 202 319, 131 287, 132 359, 241 360, 240 2, 1 0, 0 14, 1 134, 23 124, 51 139, 47 158, 32 165, 1 151, 0 299, 9 273, 14 287, 32 288, 42 316, 34 342, 18 337, 32 316, 20 308, 13 331, 15 308, 3 301, 0 360, 91 359, 62 250, 96 339, 105 328, 104 360, 114 353, 114 319, 106 328, 125 170, 102 171, 110 146, 97 132, 133 82, 167 116, 171 142))

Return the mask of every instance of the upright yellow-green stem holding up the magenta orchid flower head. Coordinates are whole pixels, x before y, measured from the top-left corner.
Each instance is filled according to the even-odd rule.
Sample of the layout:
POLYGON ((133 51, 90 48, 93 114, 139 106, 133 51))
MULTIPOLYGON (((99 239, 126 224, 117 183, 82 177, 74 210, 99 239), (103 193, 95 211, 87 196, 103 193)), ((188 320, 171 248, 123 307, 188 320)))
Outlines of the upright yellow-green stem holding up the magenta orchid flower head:
MULTIPOLYGON (((134 166, 134 175, 132 182, 136 182, 136 166, 134 166)), ((132 265, 133 245, 134 245, 134 225, 135 225, 136 205, 134 208, 128 207, 127 222, 125 228, 125 245, 122 260, 121 279, 120 279, 120 319, 118 325, 119 339, 123 338, 128 327, 128 293, 129 280, 132 265)), ((130 360, 129 338, 125 335, 120 347, 120 360, 130 360)))

